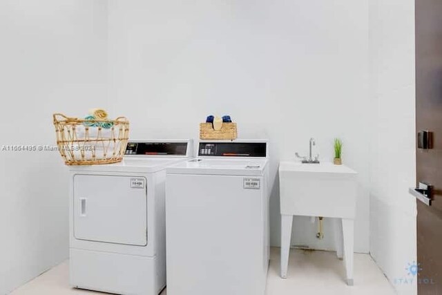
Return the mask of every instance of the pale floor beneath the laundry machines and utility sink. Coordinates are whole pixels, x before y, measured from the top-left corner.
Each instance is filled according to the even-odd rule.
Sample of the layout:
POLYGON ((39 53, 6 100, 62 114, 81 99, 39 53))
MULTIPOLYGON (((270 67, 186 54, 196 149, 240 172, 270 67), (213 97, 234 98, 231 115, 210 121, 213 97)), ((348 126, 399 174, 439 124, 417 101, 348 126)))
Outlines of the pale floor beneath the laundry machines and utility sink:
MULTIPOLYGON (((372 258, 355 254, 354 286, 345 285, 343 262, 334 252, 292 249, 288 278, 279 276, 279 249, 271 249, 267 295, 389 295, 396 294, 372 258)), ((68 284, 68 260, 16 289, 11 295, 101 294, 72 289, 68 284)), ((166 290, 161 295, 166 295, 166 290)))

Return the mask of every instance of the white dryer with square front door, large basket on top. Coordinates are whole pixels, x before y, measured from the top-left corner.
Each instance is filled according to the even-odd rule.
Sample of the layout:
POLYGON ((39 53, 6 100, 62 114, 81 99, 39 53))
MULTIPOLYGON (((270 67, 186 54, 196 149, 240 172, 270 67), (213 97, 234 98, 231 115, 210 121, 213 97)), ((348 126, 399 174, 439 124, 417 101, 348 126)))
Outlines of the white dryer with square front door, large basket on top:
POLYGON ((191 153, 191 140, 129 142, 121 163, 71 167, 71 285, 115 294, 164 289, 165 168, 191 153))

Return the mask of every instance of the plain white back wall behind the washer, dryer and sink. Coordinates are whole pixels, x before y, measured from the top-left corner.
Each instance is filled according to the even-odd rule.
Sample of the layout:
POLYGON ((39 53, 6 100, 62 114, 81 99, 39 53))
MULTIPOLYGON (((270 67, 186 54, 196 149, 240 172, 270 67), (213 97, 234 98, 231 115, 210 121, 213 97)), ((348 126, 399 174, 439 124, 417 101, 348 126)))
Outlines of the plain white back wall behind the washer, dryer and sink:
MULTIPOLYGON (((279 160, 315 137, 359 171, 356 251, 369 249, 368 5, 352 0, 118 1, 108 15, 109 101, 131 137, 198 138, 206 115, 229 114, 243 138, 271 142, 271 242, 279 245, 279 160)), ((294 244, 334 249, 296 218, 294 244)))

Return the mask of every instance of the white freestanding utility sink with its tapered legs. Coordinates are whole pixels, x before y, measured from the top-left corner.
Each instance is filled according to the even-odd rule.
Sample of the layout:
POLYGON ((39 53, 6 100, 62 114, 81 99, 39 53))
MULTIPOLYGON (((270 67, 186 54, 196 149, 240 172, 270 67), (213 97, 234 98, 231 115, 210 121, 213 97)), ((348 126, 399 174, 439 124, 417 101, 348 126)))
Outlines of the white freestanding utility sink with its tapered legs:
POLYGON ((347 285, 353 285, 356 175, 329 162, 280 162, 282 278, 287 278, 293 216, 320 216, 334 221, 336 253, 344 259, 347 285))

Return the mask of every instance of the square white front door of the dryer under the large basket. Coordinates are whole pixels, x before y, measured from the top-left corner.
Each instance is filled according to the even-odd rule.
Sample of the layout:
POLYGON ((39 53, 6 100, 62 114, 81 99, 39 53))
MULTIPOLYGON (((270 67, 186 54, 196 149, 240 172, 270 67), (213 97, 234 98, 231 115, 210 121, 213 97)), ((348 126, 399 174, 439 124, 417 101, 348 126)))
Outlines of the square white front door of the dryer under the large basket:
POLYGON ((75 175, 73 181, 75 238, 147 245, 146 178, 75 175))

